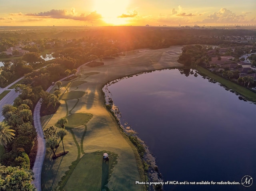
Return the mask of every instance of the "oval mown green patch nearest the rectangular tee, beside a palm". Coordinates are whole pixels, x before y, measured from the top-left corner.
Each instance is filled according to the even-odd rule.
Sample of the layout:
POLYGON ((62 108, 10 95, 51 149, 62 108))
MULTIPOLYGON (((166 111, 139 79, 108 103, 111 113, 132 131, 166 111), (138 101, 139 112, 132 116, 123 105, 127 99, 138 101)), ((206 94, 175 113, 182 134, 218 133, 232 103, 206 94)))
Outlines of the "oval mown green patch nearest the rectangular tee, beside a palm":
POLYGON ((87 123, 92 118, 92 114, 84 114, 84 113, 74 113, 67 117, 68 123, 66 126, 68 127, 77 127, 82 124, 87 123))

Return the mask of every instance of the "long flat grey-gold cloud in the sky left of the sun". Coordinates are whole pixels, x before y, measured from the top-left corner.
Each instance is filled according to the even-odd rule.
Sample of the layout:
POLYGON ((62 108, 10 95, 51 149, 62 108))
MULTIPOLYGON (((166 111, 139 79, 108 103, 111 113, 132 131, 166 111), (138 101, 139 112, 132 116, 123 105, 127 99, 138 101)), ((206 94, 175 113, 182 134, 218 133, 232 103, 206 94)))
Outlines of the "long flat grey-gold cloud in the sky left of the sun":
POLYGON ((70 12, 67 10, 55 10, 52 9, 46 12, 40 13, 28 13, 24 14, 24 16, 33 16, 33 17, 42 17, 42 18, 54 18, 54 19, 72 19, 72 20, 79 20, 79 21, 92 21, 101 19, 102 16, 98 14, 96 11, 91 12, 90 14, 80 14, 80 16, 76 16, 75 8, 72 8, 70 12))

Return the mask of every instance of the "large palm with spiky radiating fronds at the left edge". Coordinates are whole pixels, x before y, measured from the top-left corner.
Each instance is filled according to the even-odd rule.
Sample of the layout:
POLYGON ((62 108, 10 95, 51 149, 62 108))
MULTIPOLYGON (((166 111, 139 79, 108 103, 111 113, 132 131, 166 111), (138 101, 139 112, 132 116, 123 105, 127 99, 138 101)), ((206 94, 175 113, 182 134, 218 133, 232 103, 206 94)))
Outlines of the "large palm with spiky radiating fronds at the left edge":
POLYGON ((14 138, 15 130, 10 128, 6 122, 0 122, 0 144, 6 146, 14 138))

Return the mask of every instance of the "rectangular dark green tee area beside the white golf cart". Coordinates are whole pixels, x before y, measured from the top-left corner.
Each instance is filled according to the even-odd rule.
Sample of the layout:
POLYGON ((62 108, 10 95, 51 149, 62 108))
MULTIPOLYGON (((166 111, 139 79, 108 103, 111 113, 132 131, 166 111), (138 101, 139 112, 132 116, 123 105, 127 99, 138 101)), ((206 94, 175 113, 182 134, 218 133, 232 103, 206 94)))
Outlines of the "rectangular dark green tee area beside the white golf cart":
MULTIPOLYGON (((103 152, 102 152, 103 153, 103 152)), ((69 177, 64 190, 72 191, 92 191, 109 190, 106 186, 112 174, 114 165, 117 163, 117 155, 113 157, 109 154, 109 161, 102 159, 102 154, 86 154, 76 165, 69 177)))

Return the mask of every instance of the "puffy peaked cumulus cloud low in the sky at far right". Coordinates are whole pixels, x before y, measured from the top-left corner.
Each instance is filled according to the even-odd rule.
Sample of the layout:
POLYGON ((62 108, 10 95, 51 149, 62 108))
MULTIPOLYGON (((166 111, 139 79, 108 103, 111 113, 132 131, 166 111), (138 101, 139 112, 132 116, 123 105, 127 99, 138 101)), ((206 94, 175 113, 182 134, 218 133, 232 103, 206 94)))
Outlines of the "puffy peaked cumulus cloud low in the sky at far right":
POLYGON ((244 21, 245 15, 237 15, 226 8, 221 8, 218 12, 208 15, 201 23, 237 23, 244 21))

